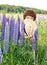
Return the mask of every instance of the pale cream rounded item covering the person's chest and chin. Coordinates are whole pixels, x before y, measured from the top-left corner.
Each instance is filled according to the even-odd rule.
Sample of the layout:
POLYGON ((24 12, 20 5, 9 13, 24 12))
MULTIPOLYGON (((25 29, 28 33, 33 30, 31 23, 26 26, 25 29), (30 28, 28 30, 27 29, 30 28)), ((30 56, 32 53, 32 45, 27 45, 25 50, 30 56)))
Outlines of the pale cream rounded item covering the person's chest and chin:
POLYGON ((37 29, 37 24, 35 21, 30 19, 24 20, 25 30, 29 36, 34 35, 35 30, 37 29))

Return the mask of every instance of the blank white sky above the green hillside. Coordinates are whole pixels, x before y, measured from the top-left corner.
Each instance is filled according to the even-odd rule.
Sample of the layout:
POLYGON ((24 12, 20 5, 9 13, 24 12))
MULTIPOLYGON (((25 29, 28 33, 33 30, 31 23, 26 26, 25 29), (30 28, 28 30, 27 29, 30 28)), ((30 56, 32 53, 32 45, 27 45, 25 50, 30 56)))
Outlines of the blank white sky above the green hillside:
POLYGON ((24 6, 47 10, 47 0, 0 0, 0 4, 24 6))

